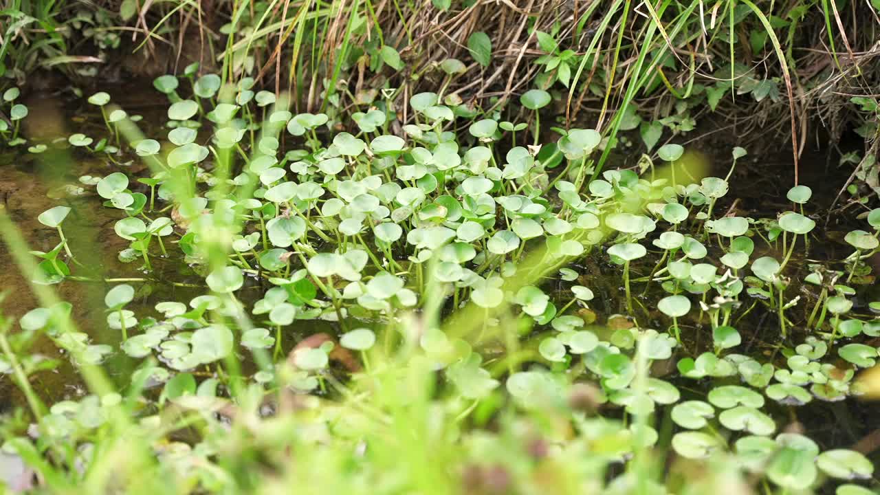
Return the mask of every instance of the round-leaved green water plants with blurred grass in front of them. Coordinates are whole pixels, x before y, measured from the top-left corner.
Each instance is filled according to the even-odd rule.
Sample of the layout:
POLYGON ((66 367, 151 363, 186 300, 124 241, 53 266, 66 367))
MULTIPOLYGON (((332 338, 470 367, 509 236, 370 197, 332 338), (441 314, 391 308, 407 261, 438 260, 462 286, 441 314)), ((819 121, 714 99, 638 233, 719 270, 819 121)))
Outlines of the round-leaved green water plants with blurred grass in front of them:
MULTIPOLYGON (((11 427, 5 445, 48 488, 246 491, 272 484, 271 464, 285 486, 305 470, 339 491, 394 478, 392 491, 452 492, 488 486, 489 460, 518 486, 542 486, 552 460, 570 491, 663 492, 675 482, 652 453, 668 448, 780 493, 872 474, 862 454, 780 432, 771 407, 857 395, 855 371, 878 356, 866 337, 880 325, 854 310, 856 289, 795 255, 815 235, 803 188, 788 195, 797 211, 719 215, 728 179, 678 174, 674 144, 657 151, 669 180, 649 179, 601 170, 594 153, 611 144, 595 129, 560 132, 542 155, 502 144, 499 129, 516 127, 497 115, 458 116, 436 93, 411 97, 398 136, 385 109, 341 130, 330 115, 292 115, 281 95, 186 78, 191 99, 178 78, 154 82, 169 98, 164 137, 130 120, 107 129, 143 172, 114 164, 80 181, 116 215, 136 277, 72 272, 68 207, 40 215, 62 240, 52 252, 34 262, 16 250, 37 284, 113 284, 104 321, 121 334, 78 331, 74 308, 48 292, 19 321, 28 338, 0 324, 0 372, 18 377, 42 432, 11 427), (163 285, 165 260, 192 280, 163 285), (612 284, 587 276, 586 261, 612 284), (809 318, 794 277, 821 287, 809 318), (737 353, 752 311, 779 320, 770 358, 737 353), (34 364, 38 335, 70 353, 88 395, 41 405, 28 381, 49 367, 34 364), (121 390, 96 366, 117 349, 134 363, 121 390), (664 361, 674 380, 652 375, 664 361), (191 438, 172 437, 185 427, 191 438), (133 455, 120 467, 125 442, 133 455), (294 452, 310 455, 291 463, 294 452)), ((549 103, 533 97, 536 111, 549 103)), ((103 152, 84 135, 68 141, 103 152)), ((876 229, 878 213, 866 218, 876 229)), ((876 251, 866 235, 876 241, 849 236, 851 265, 876 251)))

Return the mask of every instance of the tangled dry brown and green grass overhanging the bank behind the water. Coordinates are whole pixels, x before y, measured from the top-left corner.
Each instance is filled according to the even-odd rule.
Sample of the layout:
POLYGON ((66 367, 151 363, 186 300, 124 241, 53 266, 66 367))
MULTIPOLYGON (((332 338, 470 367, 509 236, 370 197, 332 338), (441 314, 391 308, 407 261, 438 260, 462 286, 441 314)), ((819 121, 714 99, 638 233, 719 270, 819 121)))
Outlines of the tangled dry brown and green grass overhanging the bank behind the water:
MULTIPOLYGON (((440 11, 431 0, 270 0, 263 4, 253 0, 137 0, 136 15, 127 26, 119 27, 125 39, 120 60, 130 72, 146 76, 180 71, 193 61, 202 63, 204 71, 217 71, 224 67, 224 49, 238 43, 249 47, 253 61, 247 66, 228 67, 231 78, 250 75, 262 87, 290 90, 297 95, 299 111, 315 111, 325 105, 325 80, 342 66, 337 86, 343 113, 363 109, 381 88, 390 88, 397 90, 395 107, 406 121, 409 115, 404 102, 409 97, 417 92, 436 92, 444 85, 445 95, 471 107, 485 111, 513 101, 511 109, 517 111, 517 95, 533 87, 536 76, 545 70, 534 63, 546 55, 539 48, 535 31, 554 32, 560 49, 587 55, 586 50, 592 47, 590 61, 574 89, 569 92, 559 83, 554 85, 563 101, 554 112, 566 115, 567 122, 585 120, 602 128, 623 104, 637 57, 643 52, 666 50, 671 54, 672 65, 662 70, 642 68, 642 74, 644 70, 656 72, 656 77, 666 79, 665 87, 678 88, 678 92, 691 84, 713 85, 719 80, 718 70, 731 58, 725 27, 727 4, 694 1, 699 8, 687 19, 685 30, 671 38, 666 33, 675 21, 674 14, 687 5, 674 4, 660 13, 662 36, 645 41, 661 3, 648 9, 646 4, 633 2, 626 21, 619 15, 621 9, 600 30, 600 21, 612 9, 613 3, 607 0, 475 0, 467 7, 454 1, 449 11, 440 11), (350 33, 353 10, 363 20, 363 28, 350 33), (263 11, 267 12, 265 17, 263 11), (230 43, 224 25, 238 12, 245 15, 230 43), (254 25, 264 32, 253 34, 250 29, 254 25), (478 31, 492 40, 492 59, 487 67, 476 63, 466 47, 468 38, 478 31), (622 42, 617 53, 619 36, 622 42), (403 70, 387 66, 370 70, 369 54, 344 60, 340 56, 348 48, 377 45, 380 39, 400 52, 403 70), (466 71, 448 80, 439 69, 447 58, 465 63, 466 71)), ((814 122, 836 139, 862 119, 864 115, 850 98, 880 95, 880 18, 866 2, 849 2, 840 10, 833 2, 828 4, 831 10, 826 19, 822 2, 757 3, 768 17, 796 23, 774 29, 786 54, 792 111, 782 91, 783 98, 776 101, 727 97, 715 115, 738 122, 746 131, 741 135, 758 129, 766 135, 769 129, 788 140, 796 134, 798 151, 814 136, 810 133, 814 122)), ((104 0, 100 6, 117 12, 120 0, 104 0)), ((750 36, 761 29, 753 15, 737 23, 733 60, 744 64, 753 78, 781 81, 786 75, 784 65, 769 44, 753 53, 750 36)), ((634 101, 642 115, 658 118, 668 114, 678 98, 658 85, 638 92, 634 101)), ((694 115, 707 113, 704 106, 694 115)))

